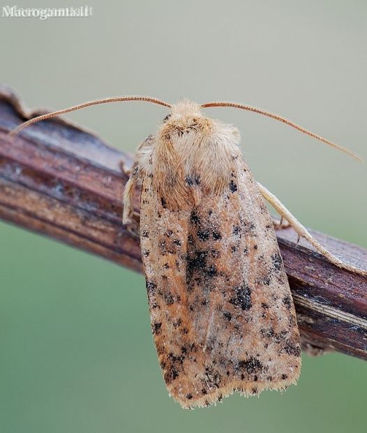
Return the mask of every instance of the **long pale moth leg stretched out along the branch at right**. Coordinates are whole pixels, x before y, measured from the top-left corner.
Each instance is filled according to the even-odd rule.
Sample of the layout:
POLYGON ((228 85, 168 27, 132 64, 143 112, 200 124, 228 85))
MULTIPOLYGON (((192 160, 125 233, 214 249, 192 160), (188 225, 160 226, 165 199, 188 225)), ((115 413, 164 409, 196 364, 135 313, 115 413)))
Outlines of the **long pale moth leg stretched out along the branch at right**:
POLYGON ((310 235, 310 233, 308 233, 306 228, 302 226, 302 224, 295 217, 293 217, 290 211, 287 210, 287 208, 282 203, 280 203, 280 201, 278 200, 278 198, 276 198, 276 196, 274 196, 274 194, 268 191, 259 182, 257 182, 257 186, 259 186, 260 193, 265 198, 265 200, 269 201, 269 203, 280 214, 280 216, 289 221, 290 225, 292 226, 292 228, 294 228, 295 232, 299 235, 299 237, 304 237, 308 242, 310 242, 310 244, 313 245, 313 247, 315 247, 315 249, 317 249, 317 251, 320 252, 320 254, 322 254, 322 256, 327 258, 331 263, 334 263, 334 265, 341 267, 342 269, 348 270, 350 272, 357 272, 357 274, 367 276, 366 270, 362 270, 359 267, 349 265, 348 263, 345 263, 342 260, 333 256, 333 254, 331 254, 329 251, 327 251, 327 249, 322 247, 322 245, 319 244, 319 242, 317 242, 317 240, 315 240, 310 235))

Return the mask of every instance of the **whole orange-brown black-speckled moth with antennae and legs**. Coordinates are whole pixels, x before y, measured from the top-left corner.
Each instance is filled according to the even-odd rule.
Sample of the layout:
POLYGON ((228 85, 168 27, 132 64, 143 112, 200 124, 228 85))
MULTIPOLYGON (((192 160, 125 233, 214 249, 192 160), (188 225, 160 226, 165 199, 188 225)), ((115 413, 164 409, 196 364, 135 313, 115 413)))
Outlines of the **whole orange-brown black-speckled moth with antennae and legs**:
MULTIPOLYGON (((137 148, 123 196, 123 223, 140 233, 151 328, 167 390, 186 409, 235 391, 285 390, 301 369, 301 345, 274 223, 264 198, 332 263, 356 269, 318 244, 255 181, 239 149, 239 131, 202 113, 232 106, 260 112, 352 154, 292 122, 236 103, 170 105, 156 133, 137 148), (140 226, 133 193, 140 187, 140 226)), ((352 154, 352 156, 356 156, 352 154)), ((356 156, 358 158, 358 156, 356 156)))

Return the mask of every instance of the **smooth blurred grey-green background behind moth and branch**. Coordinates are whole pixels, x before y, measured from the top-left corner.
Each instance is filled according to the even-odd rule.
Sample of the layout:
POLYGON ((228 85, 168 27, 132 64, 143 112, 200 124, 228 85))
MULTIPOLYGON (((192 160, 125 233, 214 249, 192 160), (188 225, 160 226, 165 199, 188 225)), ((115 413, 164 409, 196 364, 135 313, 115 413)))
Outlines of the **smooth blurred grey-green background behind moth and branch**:
MULTIPOLYGON (((88 18, 0 16, 0 81, 29 107, 117 94, 239 101, 367 158, 366 1, 89 6, 88 18)), ((259 115, 207 112, 237 124, 253 174, 300 221, 367 247, 366 164, 259 115)), ((165 115, 120 103, 70 118, 133 152, 165 115)), ((165 390, 142 275, 7 223, 0 258, 1 433, 366 432, 364 361, 304 355, 298 386, 284 394, 184 411, 165 390)))

